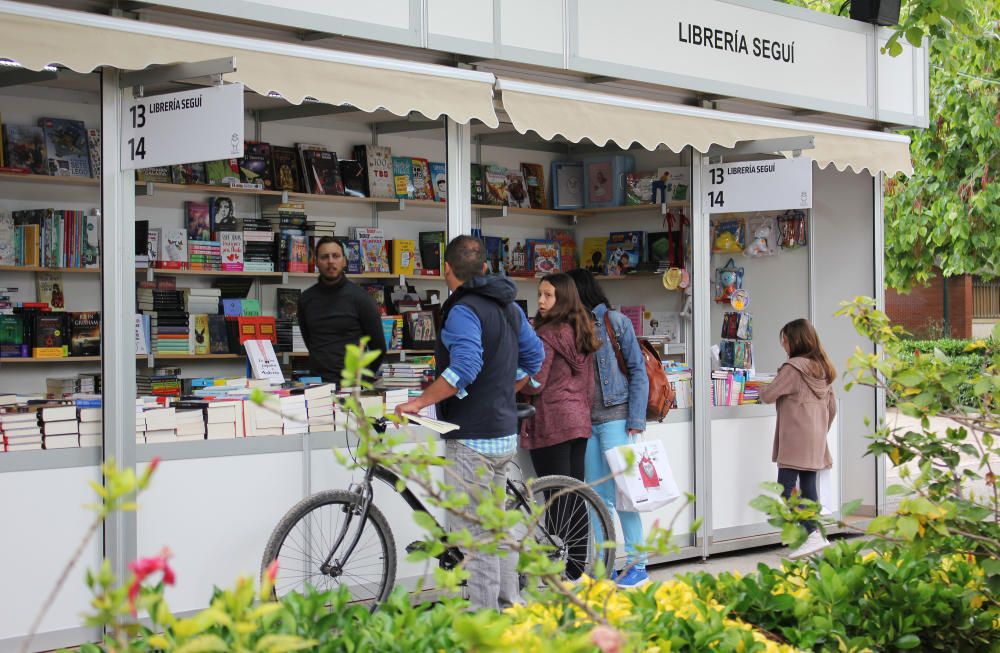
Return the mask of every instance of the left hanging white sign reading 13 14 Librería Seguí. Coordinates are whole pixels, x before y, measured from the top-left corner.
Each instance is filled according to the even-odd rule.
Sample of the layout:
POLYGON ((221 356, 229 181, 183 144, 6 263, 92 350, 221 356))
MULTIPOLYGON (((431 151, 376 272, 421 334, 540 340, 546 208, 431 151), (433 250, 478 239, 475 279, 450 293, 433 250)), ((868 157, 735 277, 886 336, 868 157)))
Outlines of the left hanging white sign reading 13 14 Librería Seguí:
POLYGON ((122 119, 122 169, 243 156, 243 85, 133 98, 122 119))

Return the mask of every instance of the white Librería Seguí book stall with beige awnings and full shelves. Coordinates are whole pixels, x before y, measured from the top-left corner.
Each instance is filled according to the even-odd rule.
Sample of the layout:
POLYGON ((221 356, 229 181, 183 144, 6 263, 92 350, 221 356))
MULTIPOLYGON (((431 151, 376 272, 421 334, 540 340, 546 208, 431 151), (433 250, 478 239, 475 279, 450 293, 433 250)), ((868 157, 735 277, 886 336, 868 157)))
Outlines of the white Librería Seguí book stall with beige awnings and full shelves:
MULTIPOLYGON (((371 414, 433 380, 452 237, 482 238, 489 272, 516 283, 529 317, 540 277, 583 267, 674 386, 674 407, 644 436, 697 497, 674 522, 671 557, 779 540, 748 506, 776 474, 775 412, 759 391, 784 360, 778 330, 791 319, 811 319, 839 366, 864 344, 833 313, 880 296, 881 180, 909 170, 908 140, 872 125, 919 125, 916 94, 884 115, 870 98, 833 101, 811 80, 826 64, 801 42, 794 92, 767 73, 773 61, 743 62, 762 67, 757 86, 724 79, 721 59, 689 76, 638 75, 587 49, 602 24, 628 40, 614 35, 622 19, 574 3, 546 19, 553 34, 578 30, 569 45, 525 34, 520 46, 464 30, 485 19, 472 6, 445 16, 432 1, 430 21, 401 29, 374 9, 345 20, 336 7, 278 16, 237 4, 246 24, 183 1, 149 3, 141 20, 0 1, 0 496, 34 498, 0 504, 5 523, 31 533, 0 567, 18 588, 16 602, 0 599, 0 651, 18 647, 58 571, 49 563, 83 531, 81 497, 103 461, 141 471, 162 460, 140 508, 109 522, 84 563, 120 570, 169 546, 184 582, 168 595, 182 613, 256 573, 290 506, 348 487, 357 472, 330 449, 349 458, 354 440, 298 323, 326 236, 344 242, 348 278, 381 313, 371 414), (295 42, 307 26, 318 43, 295 42), (563 47, 572 52, 553 56, 563 47), (695 96, 710 106, 691 106, 695 96), (265 407, 247 400, 257 389, 265 407)), ((725 22, 727 8, 748 31, 763 14, 776 34, 820 30, 849 52, 859 35, 881 38, 751 0, 712 0, 699 16, 725 22)), ((697 22, 698 10, 677 11, 670 20, 697 22)), ((640 49, 660 39, 630 29, 640 49)), ((895 65, 862 55, 864 75, 895 65)), ((912 55, 899 83, 917 86, 926 59, 912 55)), ((838 400, 822 498, 833 512, 861 498, 874 515, 882 472, 863 458, 864 419, 882 406, 840 386, 838 400)), ((527 456, 519 463, 531 474, 527 456)), ((390 519, 398 511, 399 582, 429 587, 429 568, 403 550, 419 537, 409 508, 376 492, 390 519)), ((644 523, 668 522, 678 503, 644 523)), ((93 637, 79 625, 87 600, 70 583, 33 647, 93 637)))

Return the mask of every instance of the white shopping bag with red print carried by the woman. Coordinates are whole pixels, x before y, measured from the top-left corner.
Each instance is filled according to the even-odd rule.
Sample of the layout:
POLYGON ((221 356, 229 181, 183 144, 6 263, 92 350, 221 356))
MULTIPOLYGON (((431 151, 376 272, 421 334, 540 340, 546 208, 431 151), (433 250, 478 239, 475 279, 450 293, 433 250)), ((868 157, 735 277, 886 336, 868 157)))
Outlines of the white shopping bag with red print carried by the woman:
POLYGON ((604 452, 615 475, 615 507, 626 512, 649 512, 667 505, 681 495, 674 473, 659 440, 637 440, 604 452), (626 469, 624 452, 632 450, 635 460, 626 469))

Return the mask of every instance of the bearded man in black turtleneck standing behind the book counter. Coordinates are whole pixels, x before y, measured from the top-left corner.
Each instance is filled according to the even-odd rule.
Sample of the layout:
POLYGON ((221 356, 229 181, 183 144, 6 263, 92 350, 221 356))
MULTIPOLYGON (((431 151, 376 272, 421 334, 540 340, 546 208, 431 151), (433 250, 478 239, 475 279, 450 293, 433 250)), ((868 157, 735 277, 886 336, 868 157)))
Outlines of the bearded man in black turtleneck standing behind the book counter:
MULTIPOLYGON (((368 336, 368 349, 385 352, 382 318, 375 300, 347 279, 347 257, 339 240, 316 243, 319 281, 299 296, 299 328, 309 349, 310 367, 324 381, 340 384, 344 348, 368 336)), ((382 356, 372 365, 378 371, 382 356)))

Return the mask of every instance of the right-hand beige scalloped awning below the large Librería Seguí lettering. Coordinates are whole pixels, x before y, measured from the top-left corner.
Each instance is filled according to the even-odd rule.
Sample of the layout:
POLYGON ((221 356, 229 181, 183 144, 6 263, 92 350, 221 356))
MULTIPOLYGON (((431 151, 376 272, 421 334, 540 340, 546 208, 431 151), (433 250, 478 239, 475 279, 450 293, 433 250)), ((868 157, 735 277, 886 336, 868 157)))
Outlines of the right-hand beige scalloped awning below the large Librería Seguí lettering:
POLYGON ((913 174, 910 139, 899 134, 846 129, 712 111, 663 102, 593 93, 573 88, 497 81, 504 111, 514 129, 534 131, 544 139, 559 134, 574 143, 588 138, 597 145, 632 143, 653 150, 665 145, 680 152, 690 145, 706 153, 712 145, 732 147, 741 141, 813 136, 815 148, 805 153, 820 168, 913 174))

